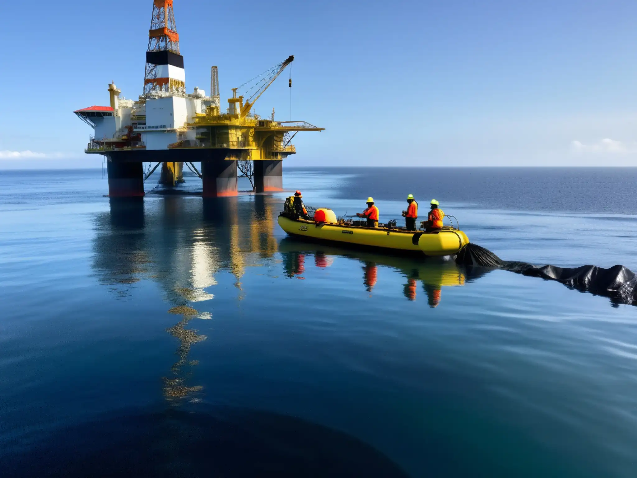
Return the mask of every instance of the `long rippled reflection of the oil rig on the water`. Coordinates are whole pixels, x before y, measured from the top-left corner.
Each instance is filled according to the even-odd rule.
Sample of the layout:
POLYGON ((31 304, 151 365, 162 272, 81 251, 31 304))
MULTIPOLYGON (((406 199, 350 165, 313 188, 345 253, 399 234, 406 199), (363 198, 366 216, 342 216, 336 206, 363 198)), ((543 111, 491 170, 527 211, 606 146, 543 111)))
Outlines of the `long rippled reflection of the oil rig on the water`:
POLYGON ((278 201, 265 195, 245 203, 240 198, 167 197, 157 205, 145 212, 143 201, 112 201, 110 214, 97 217, 92 267, 98 280, 118 296, 127 296, 143 279, 161 285, 170 304, 168 314, 180 317, 166 329, 178 347, 176 361, 162 377, 164 397, 178 405, 196 402, 205 393, 191 383, 197 361, 190 358, 190 349, 208 339, 195 324, 213 318, 206 311, 215 297, 210 287, 218 278, 225 282, 229 274, 236 299, 243 301, 246 269, 267 271, 275 260, 278 242, 271 217, 278 201))

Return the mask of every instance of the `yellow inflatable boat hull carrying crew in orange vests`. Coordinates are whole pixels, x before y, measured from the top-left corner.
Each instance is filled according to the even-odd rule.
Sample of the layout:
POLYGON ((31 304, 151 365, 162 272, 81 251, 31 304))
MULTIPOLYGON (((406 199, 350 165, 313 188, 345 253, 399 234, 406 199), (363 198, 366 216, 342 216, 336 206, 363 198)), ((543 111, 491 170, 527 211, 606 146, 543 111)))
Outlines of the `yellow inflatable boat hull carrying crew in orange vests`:
POLYGON ((278 224, 291 236, 388 249, 394 252, 422 252, 426 256, 450 256, 469 243, 465 233, 451 226, 431 232, 406 231, 290 219, 285 215, 278 217, 278 224))

